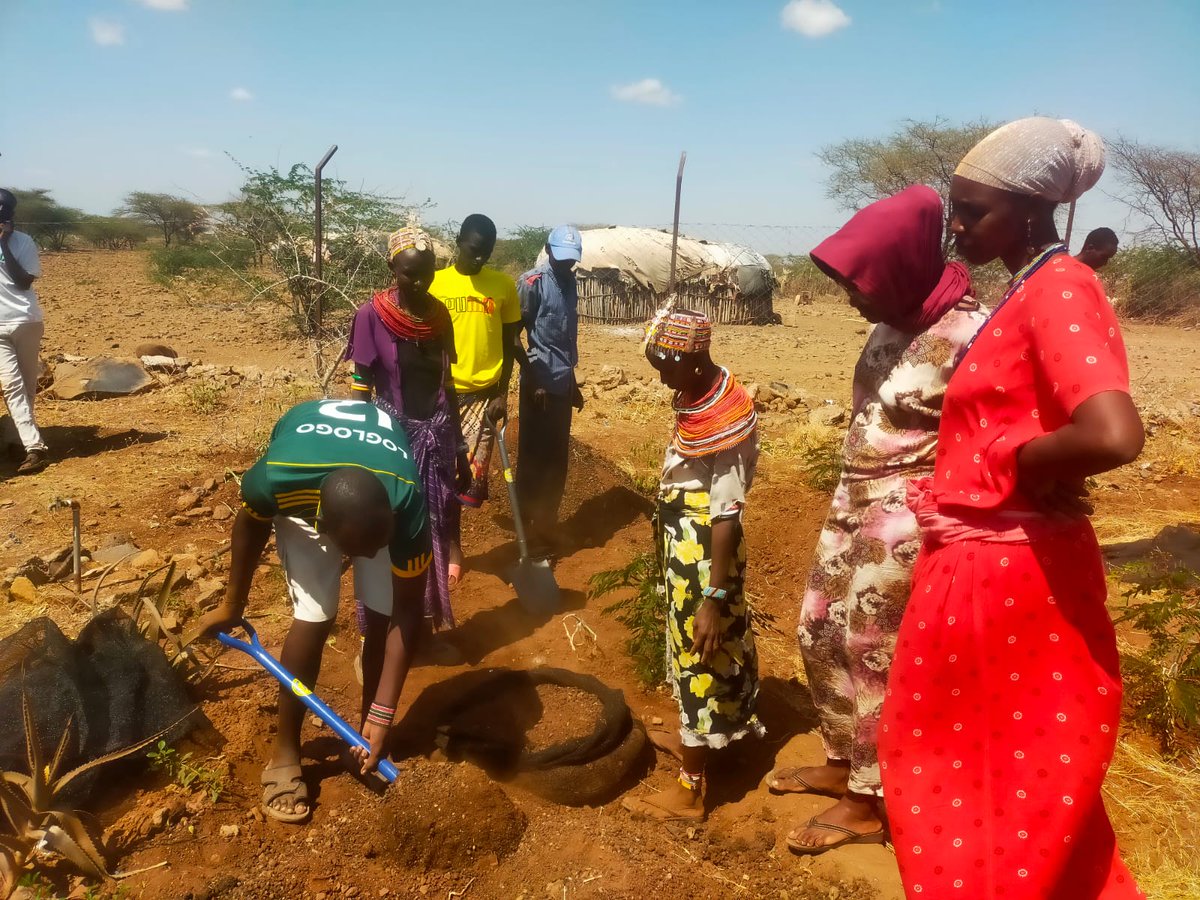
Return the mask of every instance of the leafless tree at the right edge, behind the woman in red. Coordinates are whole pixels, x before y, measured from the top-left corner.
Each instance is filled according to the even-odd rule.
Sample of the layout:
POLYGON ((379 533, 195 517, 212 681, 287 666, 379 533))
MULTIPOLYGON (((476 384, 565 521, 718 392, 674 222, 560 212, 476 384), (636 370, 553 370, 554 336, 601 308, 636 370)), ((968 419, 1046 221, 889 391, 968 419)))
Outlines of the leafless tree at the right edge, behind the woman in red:
POLYGON ((1124 185, 1118 199, 1148 223, 1142 233, 1200 265, 1200 154, 1124 137, 1109 152, 1124 185))

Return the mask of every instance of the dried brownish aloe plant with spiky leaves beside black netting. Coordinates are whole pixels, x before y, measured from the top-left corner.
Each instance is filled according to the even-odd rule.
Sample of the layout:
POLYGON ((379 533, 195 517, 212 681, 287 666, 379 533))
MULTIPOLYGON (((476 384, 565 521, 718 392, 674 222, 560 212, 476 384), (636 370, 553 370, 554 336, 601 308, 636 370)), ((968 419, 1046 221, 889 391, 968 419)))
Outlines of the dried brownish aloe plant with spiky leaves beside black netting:
POLYGON ((22 690, 20 708, 25 726, 29 774, 0 772, 0 812, 4 816, 0 820, 0 896, 8 896, 20 872, 43 853, 61 857, 82 875, 94 878, 113 877, 98 842, 84 823, 82 814, 61 804, 62 791, 80 775, 136 754, 163 737, 187 716, 144 740, 59 774, 71 743, 74 720, 67 720, 54 756, 46 763, 29 706, 29 695, 24 690, 22 690))

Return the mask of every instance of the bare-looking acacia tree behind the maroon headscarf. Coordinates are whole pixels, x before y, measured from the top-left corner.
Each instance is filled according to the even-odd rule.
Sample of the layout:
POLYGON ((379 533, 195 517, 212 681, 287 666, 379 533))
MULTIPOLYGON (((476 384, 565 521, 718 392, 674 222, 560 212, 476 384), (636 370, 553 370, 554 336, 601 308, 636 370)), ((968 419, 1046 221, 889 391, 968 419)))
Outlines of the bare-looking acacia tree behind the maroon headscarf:
POLYGON ((817 158, 832 169, 826 196, 844 209, 858 210, 911 185, 929 185, 942 196, 948 222, 954 169, 995 127, 983 119, 965 125, 950 125, 942 118, 908 119, 882 138, 829 144, 817 151, 817 158))

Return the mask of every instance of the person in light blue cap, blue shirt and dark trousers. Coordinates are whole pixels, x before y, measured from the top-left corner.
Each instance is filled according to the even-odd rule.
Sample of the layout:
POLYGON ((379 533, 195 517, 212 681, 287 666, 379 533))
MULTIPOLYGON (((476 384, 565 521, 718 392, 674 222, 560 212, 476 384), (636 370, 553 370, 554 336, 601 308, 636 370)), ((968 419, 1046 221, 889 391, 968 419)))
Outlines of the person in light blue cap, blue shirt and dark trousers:
POLYGON ((578 292, 575 264, 583 246, 575 226, 559 226, 546 241, 546 262, 517 280, 528 362, 521 371, 517 499, 530 552, 552 552, 558 508, 566 487, 571 409, 583 408, 578 365, 578 292))

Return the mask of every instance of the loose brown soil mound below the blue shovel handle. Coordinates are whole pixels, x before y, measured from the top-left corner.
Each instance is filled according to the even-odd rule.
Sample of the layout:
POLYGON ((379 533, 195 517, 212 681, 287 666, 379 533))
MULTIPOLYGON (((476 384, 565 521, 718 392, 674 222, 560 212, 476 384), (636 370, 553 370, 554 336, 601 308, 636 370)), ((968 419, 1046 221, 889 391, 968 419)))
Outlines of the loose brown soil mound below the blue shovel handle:
POLYGON ((422 871, 500 859, 517 848, 527 824, 499 785, 474 766, 455 763, 406 763, 382 799, 362 794, 343 809, 343 852, 422 871))

